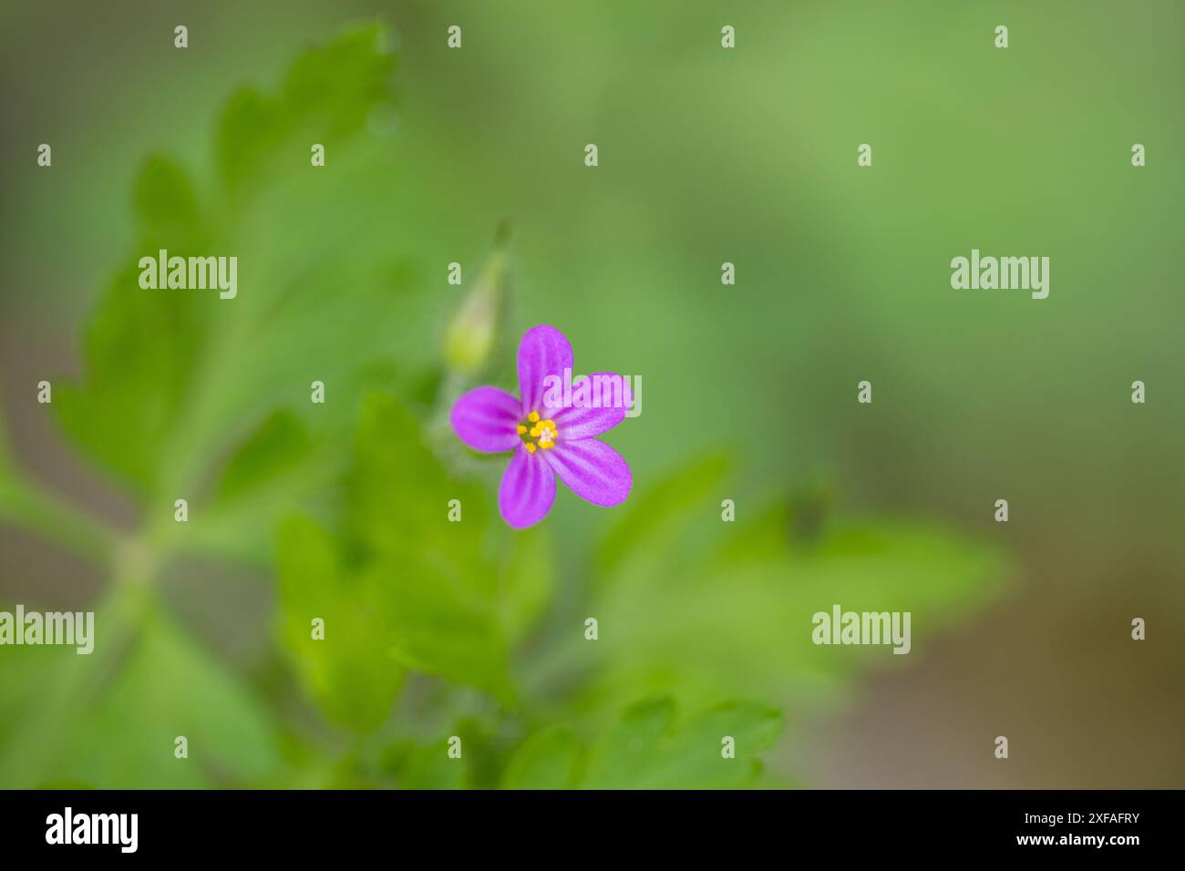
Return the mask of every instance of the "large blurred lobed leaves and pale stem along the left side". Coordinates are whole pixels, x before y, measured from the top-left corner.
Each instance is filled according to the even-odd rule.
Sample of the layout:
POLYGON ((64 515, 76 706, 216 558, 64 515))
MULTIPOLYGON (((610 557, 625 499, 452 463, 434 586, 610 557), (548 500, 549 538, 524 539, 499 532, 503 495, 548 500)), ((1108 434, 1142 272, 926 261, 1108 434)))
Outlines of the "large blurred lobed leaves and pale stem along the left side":
MULTIPOLYGON (((0 783, 269 782, 281 738, 264 700, 154 601, 135 619, 113 615, 140 602, 141 584, 156 581, 169 553, 265 563, 283 515, 340 472, 357 399, 383 371, 376 364, 398 359, 398 332, 385 325, 414 277, 389 249, 366 245, 373 231, 359 230, 390 196, 369 178, 380 145, 364 121, 395 100, 392 69, 380 28, 347 32, 301 56, 280 96, 231 98, 216 130, 217 185, 203 188, 167 155, 145 162, 133 192, 135 245, 87 325, 83 377, 55 382, 52 410, 79 450, 136 497, 146 519, 134 539, 108 547, 105 531, 94 532, 15 474, 0 475, 0 517, 81 545, 107 562, 113 581, 97 616, 98 653, 62 659, 28 648, 20 665, 0 671, 11 732, 0 748, 0 783), (265 113, 273 123, 261 123, 265 113), (308 166, 314 130, 318 140, 332 137, 340 166, 333 187, 308 166), (365 257, 356 256, 360 245, 365 257), (238 297, 140 288, 137 260, 159 249, 239 256, 238 297), (344 414, 310 405, 314 379, 344 414), (191 505, 184 527, 172 523, 177 498, 191 505), (190 760, 173 758, 175 735, 190 738, 190 760)), ((0 472, 8 469, 0 455, 0 472)), ((347 626, 339 627, 341 641, 347 626)), ((390 671, 397 681, 401 670, 390 671)), ((357 687, 352 704, 373 707, 369 674, 365 683, 334 677, 339 697, 357 687)))

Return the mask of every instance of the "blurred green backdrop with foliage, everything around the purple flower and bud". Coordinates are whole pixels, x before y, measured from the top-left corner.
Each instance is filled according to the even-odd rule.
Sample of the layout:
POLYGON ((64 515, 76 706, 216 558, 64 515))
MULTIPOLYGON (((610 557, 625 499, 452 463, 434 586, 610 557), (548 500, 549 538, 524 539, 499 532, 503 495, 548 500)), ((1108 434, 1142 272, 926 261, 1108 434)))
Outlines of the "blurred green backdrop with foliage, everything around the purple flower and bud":
POLYGON ((0 9, 0 609, 98 611, 0 648, 0 787, 1183 784, 1181 4, 0 9), (542 322, 635 483, 519 534, 444 415, 542 322))

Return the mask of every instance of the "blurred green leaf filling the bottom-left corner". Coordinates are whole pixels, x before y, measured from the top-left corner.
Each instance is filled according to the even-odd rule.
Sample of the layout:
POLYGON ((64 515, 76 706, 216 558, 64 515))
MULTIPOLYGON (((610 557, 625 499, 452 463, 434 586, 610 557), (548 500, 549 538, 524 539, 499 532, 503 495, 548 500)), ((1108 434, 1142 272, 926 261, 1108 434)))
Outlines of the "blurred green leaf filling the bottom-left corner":
POLYGON ((20 648, 0 670, 0 782, 104 789, 267 784, 278 775, 269 713, 160 609, 122 649, 96 614, 95 652, 20 648), (113 648, 114 646, 114 648, 113 648), (188 758, 174 739, 188 739, 188 758))

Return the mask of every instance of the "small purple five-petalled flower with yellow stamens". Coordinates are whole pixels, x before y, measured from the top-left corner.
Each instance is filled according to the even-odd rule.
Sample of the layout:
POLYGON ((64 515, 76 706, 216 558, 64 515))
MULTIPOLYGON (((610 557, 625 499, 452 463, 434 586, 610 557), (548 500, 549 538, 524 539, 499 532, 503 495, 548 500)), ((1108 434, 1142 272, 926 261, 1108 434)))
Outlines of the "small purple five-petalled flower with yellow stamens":
POLYGON ((542 520, 556 501, 556 475, 594 505, 617 505, 634 483, 621 454, 592 436, 616 427, 630 404, 620 376, 597 372, 569 383, 572 346, 555 327, 532 327, 519 344, 521 402, 497 388, 476 388, 453 405, 449 420, 457 437, 474 450, 513 450, 502 475, 498 508, 515 529, 542 520), (590 388, 620 384, 614 402, 590 388))

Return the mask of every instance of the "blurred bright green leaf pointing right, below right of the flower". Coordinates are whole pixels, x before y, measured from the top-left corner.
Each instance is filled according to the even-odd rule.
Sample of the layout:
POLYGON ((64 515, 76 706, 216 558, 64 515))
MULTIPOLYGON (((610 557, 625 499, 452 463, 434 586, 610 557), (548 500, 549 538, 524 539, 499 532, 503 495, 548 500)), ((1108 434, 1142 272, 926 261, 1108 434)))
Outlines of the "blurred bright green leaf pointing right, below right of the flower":
POLYGON ((698 570, 632 574, 603 585, 589 606, 601 641, 588 699, 673 692, 703 703, 728 693, 816 703, 860 668, 927 655, 1006 577, 994 549, 924 524, 837 518, 803 545, 787 524, 770 520, 777 515, 756 512, 756 532, 736 523, 736 534, 760 542, 752 558, 710 558, 698 570), (835 603, 910 611, 911 653, 814 645, 813 615, 835 603))

